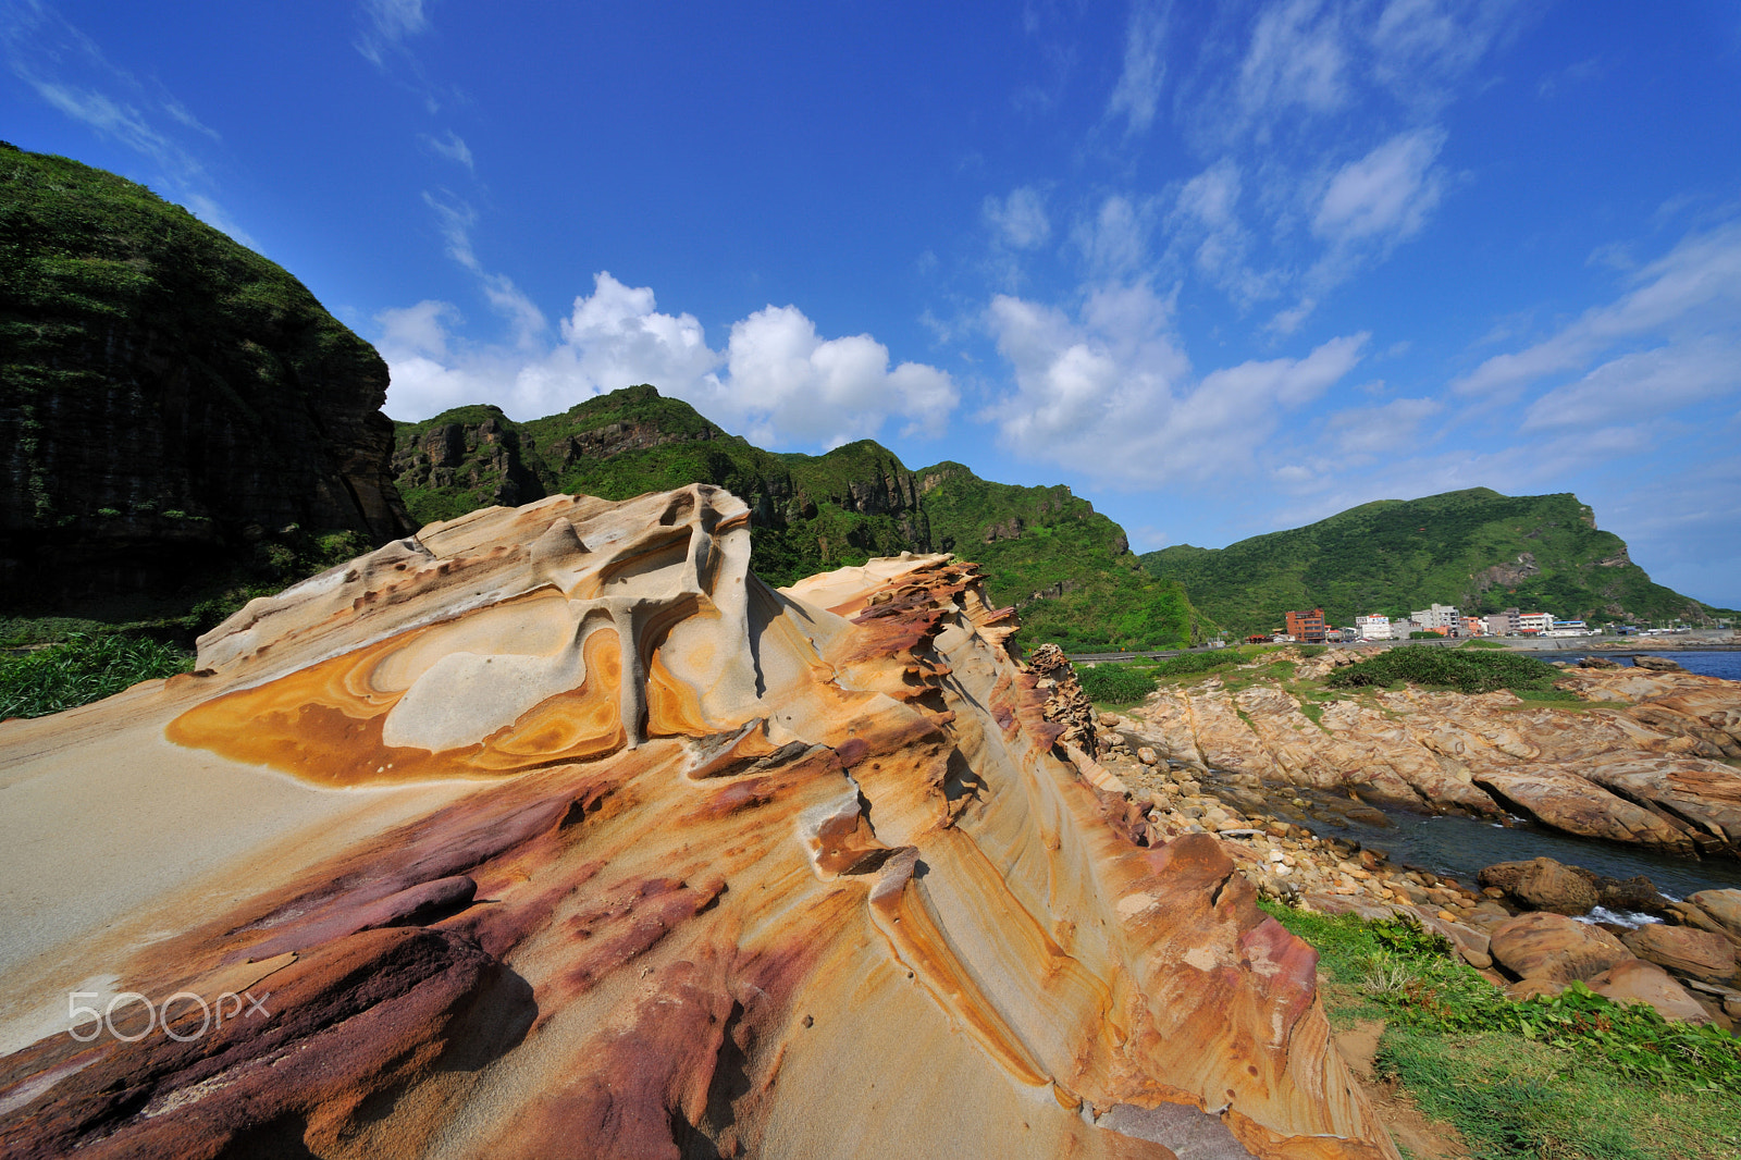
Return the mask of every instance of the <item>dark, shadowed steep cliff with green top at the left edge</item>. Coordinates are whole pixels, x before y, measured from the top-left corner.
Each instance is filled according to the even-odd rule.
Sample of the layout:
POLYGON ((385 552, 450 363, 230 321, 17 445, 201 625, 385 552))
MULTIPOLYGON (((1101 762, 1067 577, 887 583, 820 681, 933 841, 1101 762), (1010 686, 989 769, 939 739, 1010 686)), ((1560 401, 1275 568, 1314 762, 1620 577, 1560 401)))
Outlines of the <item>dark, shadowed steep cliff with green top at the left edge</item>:
POLYGON ((0 148, 0 590, 178 583, 261 529, 404 535, 387 364, 143 186, 0 148))

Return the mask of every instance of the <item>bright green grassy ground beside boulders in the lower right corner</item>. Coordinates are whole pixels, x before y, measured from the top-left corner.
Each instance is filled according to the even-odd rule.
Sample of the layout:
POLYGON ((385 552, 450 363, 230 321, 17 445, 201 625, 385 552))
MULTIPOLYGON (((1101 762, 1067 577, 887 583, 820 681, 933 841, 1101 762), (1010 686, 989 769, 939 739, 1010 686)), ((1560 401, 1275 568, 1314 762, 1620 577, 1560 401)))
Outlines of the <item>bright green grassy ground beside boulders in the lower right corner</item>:
POLYGON ((1741 1045, 1574 989, 1511 1003, 1431 937, 1264 904, 1320 953, 1337 1029, 1382 1019, 1377 1069, 1483 1160, 1734 1160, 1741 1045))

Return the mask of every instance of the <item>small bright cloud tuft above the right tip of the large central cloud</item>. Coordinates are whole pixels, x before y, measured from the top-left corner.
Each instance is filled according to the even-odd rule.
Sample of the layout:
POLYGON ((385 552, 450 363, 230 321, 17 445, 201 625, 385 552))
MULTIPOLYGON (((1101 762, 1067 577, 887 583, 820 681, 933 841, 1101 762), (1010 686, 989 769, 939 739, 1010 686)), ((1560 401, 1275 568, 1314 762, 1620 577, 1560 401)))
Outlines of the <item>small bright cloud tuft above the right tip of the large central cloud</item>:
POLYGON ((1433 167, 1443 145, 1443 129, 1415 129, 1342 165, 1318 202, 1313 233, 1337 246, 1417 233, 1443 193, 1443 176, 1433 167))

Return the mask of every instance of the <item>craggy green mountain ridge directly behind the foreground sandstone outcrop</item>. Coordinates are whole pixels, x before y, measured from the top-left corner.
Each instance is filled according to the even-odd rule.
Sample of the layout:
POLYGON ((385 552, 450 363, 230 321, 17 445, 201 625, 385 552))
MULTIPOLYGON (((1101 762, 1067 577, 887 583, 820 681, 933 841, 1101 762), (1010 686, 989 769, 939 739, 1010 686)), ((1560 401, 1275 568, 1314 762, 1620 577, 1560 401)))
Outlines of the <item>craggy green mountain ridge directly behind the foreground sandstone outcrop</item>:
POLYGON ((526 423, 470 406, 395 430, 399 493, 420 523, 557 491, 623 500, 712 482, 750 505, 754 568, 775 583, 951 550, 985 566, 992 601, 1018 606, 1036 643, 1126 648, 1203 634, 1180 585, 1144 573, 1123 529, 1069 488, 987 482, 959 463, 911 472, 870 439, 827 455, 763 451, 648 385, 526 423))

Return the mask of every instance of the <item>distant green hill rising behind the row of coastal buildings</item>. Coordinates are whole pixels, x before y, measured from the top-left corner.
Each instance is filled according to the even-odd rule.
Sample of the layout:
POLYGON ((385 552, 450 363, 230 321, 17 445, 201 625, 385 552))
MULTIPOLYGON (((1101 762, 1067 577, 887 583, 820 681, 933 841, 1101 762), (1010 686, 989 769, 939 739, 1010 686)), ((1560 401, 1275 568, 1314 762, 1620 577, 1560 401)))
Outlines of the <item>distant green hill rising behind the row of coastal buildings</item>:
POLYGON ((1522 608, 1593 622, 1703 624, 1724 611, 1652 583, 1626 542, 1598 531, 1595 514, 1570 493, 1471 488, 1379 500, 1224 549, 1166 547, 1146 554, 1142 566, 1184 583, 1205 615, 1240 634, 1320 606, 1337 625, 1433 603, 1468 615, 1522 608))

